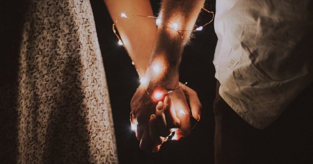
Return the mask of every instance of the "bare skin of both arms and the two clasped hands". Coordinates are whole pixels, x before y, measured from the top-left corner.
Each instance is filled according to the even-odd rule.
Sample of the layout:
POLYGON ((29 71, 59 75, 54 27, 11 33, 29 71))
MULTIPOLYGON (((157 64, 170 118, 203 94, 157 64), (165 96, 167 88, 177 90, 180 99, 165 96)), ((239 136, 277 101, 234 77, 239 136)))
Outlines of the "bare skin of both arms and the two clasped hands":
MULTIPOLYGON (((140 2, 105 0, 113 20, 126 11, 129 15, 152 15, 149 1, 140 2)), ((177 88, 182 85, 178 81, 179 62, 191 34, 190 31, 184 30, 192 30, 203 3, 204 0, 163 0, 160 12, 161 24, 157 30, 153 19, 153 21, 146 19, 144 26, 139 22, 143 21, 143 18, 130 20, 131 25, 129 22, 119 24, 121 21, 116 24, 122 40, 124 41, 124 38, 129 40, 124 41, 127 50, 129 48, 134 50, 128 52, 141 78, 147 80, 146 84, 138 87, 131 100, 132 118, 138 123, 136 137, 140 140, 140 148, 147 152, 158 151, 163 143, 163 137, 170 134, 171 128, 179 128, 176 131, 177 136, 190 133, 191 118, 179 113, 180 110, 189 115, 192 113, 196 120, 200 119, 201 103, 196 92, 187 86, 177 88), (173 26, 174 23, 177 24, 176 27, 173 26), (135 28, 137 30, 134 30, 135 28), (149 32, 142 33, 147 29, 149 32), (131 41, 133 38, 137 38, 136 41, 131 41), (141 45, 140 48, 138 45, 141 45), (160 67, 158 71, 153 69, 156 65, 160 67), (168 93, 164 102, 157 104, 151 101, 151 97, 154 97, 153 93, 158 89, 176 90, 168 93), (148 101, 150 102, 142 106, 148 101)))

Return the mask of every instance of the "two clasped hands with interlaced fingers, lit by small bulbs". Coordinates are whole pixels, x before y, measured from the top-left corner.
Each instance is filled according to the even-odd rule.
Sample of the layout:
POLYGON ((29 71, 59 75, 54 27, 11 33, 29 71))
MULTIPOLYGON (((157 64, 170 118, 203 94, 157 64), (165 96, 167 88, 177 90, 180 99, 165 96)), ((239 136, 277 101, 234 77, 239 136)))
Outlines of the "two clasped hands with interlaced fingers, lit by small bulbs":
POLYGON ((131 124, 140 141, 140 148, 146 152, 157 152, 164 138, 173 131, 176 130, 178 138, 191 132, 192 118, 189 115, 192 114, 199 121, 202 106, 197 93, 178 81, 176 89, 167 93, 163 102, 161 100, 158 103, 151 99, 152 93, 147 91, 155 90, 155 85, 150 86, 140 85, 134 94, 131 100, 131 124))

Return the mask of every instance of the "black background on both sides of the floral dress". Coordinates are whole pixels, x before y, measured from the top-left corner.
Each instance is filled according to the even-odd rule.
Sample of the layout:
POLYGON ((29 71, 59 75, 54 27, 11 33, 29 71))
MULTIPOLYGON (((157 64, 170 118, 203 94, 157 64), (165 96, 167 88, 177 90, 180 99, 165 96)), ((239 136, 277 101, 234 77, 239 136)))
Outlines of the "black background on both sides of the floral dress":
MULTIPOLYGON (((16 81, 18 55, 21 41, 21 27, 27 1, 5 0, 0 5, 0 85, 16 81), (11 66, 11 67, 10 67, 11 66), (8 68, 14 68, 14 70, 8 68), (8 72, 6 72, 8 71, 8 72)), ((129 113, 131 97, 139 85, 138 75, 124 48, 117 44, 118 40, 112 32, 112 20, 102 0, 90 0, 95 17, 95 24, 104 59, 107 83, 113 111, 117 150, 120 163, 213 163, 213 100, 215 84, 213 54, 217 37, 213 22, 195 33, 191 43, 185 47, 181 68, 180 81, 188 82, 188 86, 197 91, 203 105, 201 120, 192 134, 179 141, 164 143, 157 153, 145 153, 139 149, 139 141, 130 129, 129 113)), ((151 0, 155 15, 160 1, 151 0)), ((206 8, 215 12, 215 1, 207 0, 206 8)), ((212 15, 201 12, 197 25, 204 25, 212 15)), ((12 93, 11 93, 12 92, 12 93)), ((13 90, 13 98, 5 102, 8 109, 16 101, 17 91, 13 90)), ((6 94, 6 93, 2 93, 6 94)), ((10 96, 8 96, 9 98, 10 96)), ((0 110, 1 158, 16 159, 16 138, 18 113, 15 110, 0 110), (10 117, 8 117, 10 116, 10 117), (5 134, 8 135, 5 135, 5 134), (5 138, 3 136, 12 136, 5 138), (2 148, 7 148, 2 150, 2 148)))

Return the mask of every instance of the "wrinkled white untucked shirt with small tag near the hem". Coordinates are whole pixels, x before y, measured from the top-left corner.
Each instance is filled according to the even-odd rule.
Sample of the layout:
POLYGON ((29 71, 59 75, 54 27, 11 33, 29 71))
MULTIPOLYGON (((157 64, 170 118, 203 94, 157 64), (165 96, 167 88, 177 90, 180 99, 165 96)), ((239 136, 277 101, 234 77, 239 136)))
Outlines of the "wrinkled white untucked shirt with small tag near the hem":
MULTIPOLYGON (((217 0, 219 94, 263 129, 313 81, 310 0, 217 0)), ((297 110, 297 109, 295 109, 297 110)))

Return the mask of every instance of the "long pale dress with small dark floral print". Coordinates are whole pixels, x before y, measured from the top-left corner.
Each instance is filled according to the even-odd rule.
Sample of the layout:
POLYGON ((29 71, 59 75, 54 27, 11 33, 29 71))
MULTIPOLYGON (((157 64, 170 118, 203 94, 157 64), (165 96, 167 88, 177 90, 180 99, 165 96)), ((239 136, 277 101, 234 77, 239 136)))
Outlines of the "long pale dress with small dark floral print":
POLYGON ((14 107, 1 86, 1 108, 17 114, 16 133, 1 134, 16 148, 4 149, 17 163, 118 163, 90 2, 29 0, 22 30, 14 107))

